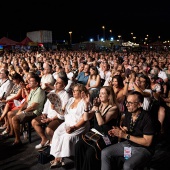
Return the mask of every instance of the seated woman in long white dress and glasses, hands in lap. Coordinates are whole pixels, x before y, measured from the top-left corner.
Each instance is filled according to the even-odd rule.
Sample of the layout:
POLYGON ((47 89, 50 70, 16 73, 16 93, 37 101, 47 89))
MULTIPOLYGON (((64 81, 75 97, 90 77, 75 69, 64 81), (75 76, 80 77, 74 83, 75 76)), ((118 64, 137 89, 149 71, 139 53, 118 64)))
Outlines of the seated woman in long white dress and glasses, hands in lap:
POLYGON ((73 97, 68 100, 64 111, 65 121, 55 130, 50 154, 55 157, 51 168, 62 166, 62 158, 75 155, 75 144, 80 136, 89 130, 89 121, 83 118, 85 103, 82 97, 88 91, 82 84, 73 88, 73 97))

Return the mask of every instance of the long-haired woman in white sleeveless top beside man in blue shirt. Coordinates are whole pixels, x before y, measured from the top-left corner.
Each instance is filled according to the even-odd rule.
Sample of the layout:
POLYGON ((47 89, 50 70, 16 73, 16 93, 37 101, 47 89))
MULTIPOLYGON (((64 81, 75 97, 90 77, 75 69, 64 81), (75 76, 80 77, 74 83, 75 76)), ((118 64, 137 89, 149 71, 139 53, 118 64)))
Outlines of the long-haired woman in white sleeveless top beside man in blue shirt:
POLYGON ((90 76, 88 78, 86 88, 90 93, 90 102, 93 103, 93 100, 98 97, 101 86, 101 78, 98 72, 97 67, 90 68, 90 76))

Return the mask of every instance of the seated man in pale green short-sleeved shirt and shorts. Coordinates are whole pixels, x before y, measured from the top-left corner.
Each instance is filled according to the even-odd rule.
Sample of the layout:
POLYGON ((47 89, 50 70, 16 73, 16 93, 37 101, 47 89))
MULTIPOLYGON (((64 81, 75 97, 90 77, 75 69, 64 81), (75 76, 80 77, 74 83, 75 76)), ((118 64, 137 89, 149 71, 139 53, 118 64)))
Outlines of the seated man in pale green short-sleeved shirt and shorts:
POLYGON ((33 74, 29 79, 29 87, 31 89, 24 105, 16 111, 16 115, 12 118, 12 126, 15 133, 15 141, 13 146, 20 146, 20 123, 31 121, 42 113, 46 95, 45 91, 40 87, 40 77, 33 74))

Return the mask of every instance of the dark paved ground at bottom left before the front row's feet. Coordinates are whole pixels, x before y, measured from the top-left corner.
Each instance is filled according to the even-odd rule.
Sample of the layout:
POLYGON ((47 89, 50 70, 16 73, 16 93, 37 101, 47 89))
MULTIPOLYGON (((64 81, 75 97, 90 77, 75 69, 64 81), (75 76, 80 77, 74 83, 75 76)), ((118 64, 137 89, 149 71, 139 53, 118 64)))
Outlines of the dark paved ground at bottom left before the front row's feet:
MULTIPOLYGON (((35 145, 40 143, 40 138, 33 131, 32 143, 24 140, 21 136, 23 146, 13 148, 11 144, 14 138, 0 138, 0 170, 49 170, 50 163, 38 163, 38 151, 35 145)), ((65 159, 66 165, 58 170, 75 170, 74 162, 71 159, 65 159)))

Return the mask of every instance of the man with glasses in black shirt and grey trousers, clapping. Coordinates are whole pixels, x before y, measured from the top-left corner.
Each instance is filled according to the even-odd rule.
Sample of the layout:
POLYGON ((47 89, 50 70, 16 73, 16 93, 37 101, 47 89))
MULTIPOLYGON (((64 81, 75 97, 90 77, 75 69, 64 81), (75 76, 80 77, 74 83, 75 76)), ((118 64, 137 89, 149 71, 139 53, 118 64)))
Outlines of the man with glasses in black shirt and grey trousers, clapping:
POLYGON ((111 161, 124 157, 124 170, 142 168, 151 160, 154 151, 155 126, 151 116, 142 108, 143 95, 133 91, 128 94, 127 112, 120 127, 113 127, 108 133, 121 139, 119 143, 102 150, 101 170, 116 169, 111 161))

